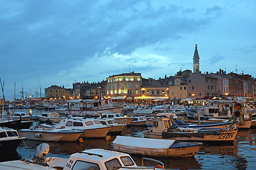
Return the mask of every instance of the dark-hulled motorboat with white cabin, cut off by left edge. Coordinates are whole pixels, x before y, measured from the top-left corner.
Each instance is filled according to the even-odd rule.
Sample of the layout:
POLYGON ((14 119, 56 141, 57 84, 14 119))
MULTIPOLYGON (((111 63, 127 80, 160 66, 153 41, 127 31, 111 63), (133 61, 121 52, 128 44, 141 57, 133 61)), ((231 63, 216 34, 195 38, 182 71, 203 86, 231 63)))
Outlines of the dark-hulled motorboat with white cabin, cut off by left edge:
POLYGON ((0 127, 0 150, 4 151, 16 151, 18 144, 21 140, 26 139, 20 137, 17 130, 11 128, 0 127))

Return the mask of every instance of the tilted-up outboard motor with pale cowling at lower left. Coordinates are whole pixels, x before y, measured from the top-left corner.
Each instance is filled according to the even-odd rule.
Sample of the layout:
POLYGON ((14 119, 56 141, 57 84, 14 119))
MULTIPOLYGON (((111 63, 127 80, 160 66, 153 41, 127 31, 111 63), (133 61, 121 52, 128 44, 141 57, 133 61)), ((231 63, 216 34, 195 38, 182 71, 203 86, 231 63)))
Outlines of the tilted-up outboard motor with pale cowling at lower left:
POLYGON ((35 164, 48 166, 48 164, 45 161, 46 161, 46 157, 49 150, 50 150, 50 146, 47 143, 42 143, 41 145, 38 145, 38 147, 36 147, 36 153, 32 159, 33 162, 35 164))

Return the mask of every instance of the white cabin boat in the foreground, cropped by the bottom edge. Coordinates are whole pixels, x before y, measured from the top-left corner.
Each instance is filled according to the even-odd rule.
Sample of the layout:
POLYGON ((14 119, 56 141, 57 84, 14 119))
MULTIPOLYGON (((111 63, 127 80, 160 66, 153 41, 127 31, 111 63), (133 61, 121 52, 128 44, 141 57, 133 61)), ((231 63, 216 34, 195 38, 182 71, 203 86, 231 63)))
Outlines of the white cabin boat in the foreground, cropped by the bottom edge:
MULTIPOLYGON (((155 160, 151 159, 151 161, 155 160)), ((63 170, 146 169, 145 167, 142 168, 137 166, 137 164, 134 162, 132 157, 129 156, 129 154, 107 149, 84 150, 80 153, 72 154, 68 160, 50 157, 46 159, 46 163, 50 167, 63 168, 63 170), (61 165, 63 166, 61 167, 61 165)), ((151 166, 150 168, 148 167, 147 169, 154 169, 154 167, 151 166)))

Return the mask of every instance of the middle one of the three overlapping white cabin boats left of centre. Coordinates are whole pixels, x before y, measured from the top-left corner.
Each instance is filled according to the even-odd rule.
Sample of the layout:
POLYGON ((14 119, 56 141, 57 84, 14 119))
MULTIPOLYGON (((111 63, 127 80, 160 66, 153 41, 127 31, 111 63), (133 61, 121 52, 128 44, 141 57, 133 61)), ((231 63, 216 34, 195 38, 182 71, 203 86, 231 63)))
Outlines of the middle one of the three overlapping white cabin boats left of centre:
POLYGON ((110 132, 122 132, 126 126, 126 124, 119 124, 116 120, 111 118, 97 118, 97 120, 100 120, 102 125, 107 125, 110 127, 110 132))

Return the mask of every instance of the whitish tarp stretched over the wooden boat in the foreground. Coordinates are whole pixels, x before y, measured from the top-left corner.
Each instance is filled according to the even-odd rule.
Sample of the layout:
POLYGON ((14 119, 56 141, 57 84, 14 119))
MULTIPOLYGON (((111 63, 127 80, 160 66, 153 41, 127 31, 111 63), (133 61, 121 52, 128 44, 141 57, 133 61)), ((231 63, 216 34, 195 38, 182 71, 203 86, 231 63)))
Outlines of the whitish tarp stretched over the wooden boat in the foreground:
POLYGON ((114 145, 124 145, 132 148, 163 149, 173 145, 175 140, 159 140, 142 137, 117 136, 112 142, 114 145))

